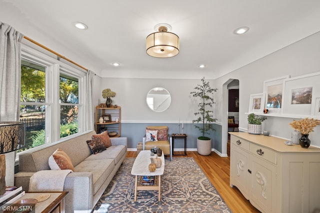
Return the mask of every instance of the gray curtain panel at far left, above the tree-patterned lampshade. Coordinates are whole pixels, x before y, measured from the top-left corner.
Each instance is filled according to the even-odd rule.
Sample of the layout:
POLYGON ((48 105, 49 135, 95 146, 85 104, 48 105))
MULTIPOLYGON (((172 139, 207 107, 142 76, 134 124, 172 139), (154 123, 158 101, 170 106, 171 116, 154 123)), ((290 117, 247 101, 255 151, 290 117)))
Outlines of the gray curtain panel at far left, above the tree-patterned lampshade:
POLYGON ((0 21, 0 121, 18 121, 23 34, 0 21))

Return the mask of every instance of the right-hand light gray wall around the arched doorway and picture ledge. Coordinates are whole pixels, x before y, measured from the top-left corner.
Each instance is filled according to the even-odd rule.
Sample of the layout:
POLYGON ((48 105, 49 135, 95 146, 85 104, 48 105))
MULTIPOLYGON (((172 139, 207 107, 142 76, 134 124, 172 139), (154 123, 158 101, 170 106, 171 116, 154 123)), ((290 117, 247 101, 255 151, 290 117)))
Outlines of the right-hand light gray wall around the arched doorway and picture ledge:
MULTIPOLYGON (((263 81, 284 75, 291 77, 318 72, 320 70, 320 32, 273 52, 265 57, 243 66, 229 74, 214 80, 218 88, 229 79, 239 80, 239 128, 247 128, 249 96, 263 92, 263 81)), ((217 91, 215 112, 218 120, 222 119, 222 89, 217 91), (221 101, 220 101, 221 100, 221 101)), ((268 117, 262 123, 262 130, 269 130, 271 135, 290 139, 293 128, 289 125, 293 118, 268 117)), ((311 145, 320 146, 320 126, 314 128, 309 138, 311 145)), ((216 141, 217 142, 217 141, 216 141)))

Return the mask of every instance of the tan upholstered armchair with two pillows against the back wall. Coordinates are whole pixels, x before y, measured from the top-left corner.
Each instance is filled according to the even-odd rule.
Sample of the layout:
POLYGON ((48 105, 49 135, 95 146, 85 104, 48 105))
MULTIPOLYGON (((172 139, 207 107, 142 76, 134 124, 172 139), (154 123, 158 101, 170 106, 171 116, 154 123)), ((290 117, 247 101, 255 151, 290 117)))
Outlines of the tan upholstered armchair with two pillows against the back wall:
POLYGON ((169 137, 167 126, 146 126, 142 143, 143 150, 150 150, 156 146, 162 150, 164 155, 169 155, 172 161, 172 137, 169 137))

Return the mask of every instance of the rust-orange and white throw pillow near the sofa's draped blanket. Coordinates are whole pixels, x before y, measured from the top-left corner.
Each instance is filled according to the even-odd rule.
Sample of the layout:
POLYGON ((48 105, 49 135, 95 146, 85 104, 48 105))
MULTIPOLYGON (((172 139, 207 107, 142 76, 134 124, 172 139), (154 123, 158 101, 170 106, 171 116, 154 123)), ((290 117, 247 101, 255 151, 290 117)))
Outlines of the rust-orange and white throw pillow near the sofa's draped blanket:
POLYGON ((60 148, 51 154, 48 163, 52 170, 71 169, 74 171, 70 157, 60 148))

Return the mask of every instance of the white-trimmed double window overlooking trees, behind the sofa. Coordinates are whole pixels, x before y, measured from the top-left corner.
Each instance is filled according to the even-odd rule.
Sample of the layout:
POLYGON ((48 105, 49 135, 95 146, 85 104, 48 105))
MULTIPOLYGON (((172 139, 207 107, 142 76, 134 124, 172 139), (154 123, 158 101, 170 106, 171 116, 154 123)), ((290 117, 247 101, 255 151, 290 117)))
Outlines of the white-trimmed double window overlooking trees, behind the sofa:
POLYGON ((59 141, 82 132, 86 72, 22 44, 20 121, 25 147, 59 141))

